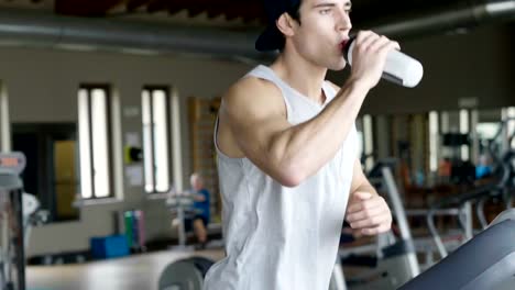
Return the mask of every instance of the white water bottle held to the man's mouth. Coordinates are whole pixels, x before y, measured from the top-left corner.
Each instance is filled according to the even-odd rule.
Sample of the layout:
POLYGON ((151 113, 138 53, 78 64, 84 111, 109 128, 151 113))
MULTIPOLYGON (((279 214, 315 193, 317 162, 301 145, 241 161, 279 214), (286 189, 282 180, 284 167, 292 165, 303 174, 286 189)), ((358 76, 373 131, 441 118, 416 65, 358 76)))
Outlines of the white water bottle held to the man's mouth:
MULTIPOLYGON (((352 49, 354 48, 354 38, 350 38, 343 47, 343 57, 352 66, 352 49)), ((392 49, 386 56, 383 78, 394 83, 413 88, 420 82, 424 75, 421 64, 397 49, 392 49)))

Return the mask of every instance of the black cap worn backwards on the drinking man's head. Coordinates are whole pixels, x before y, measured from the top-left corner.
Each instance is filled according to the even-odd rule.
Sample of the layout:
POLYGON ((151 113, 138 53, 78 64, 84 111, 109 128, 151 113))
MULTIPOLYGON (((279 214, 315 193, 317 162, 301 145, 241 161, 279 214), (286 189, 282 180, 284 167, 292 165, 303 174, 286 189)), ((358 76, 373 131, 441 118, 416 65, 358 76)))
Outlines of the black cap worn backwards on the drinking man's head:
POLYGON ((283 33, 277 29, 275 21, 284 13, 300 3, 302 0, 263 0, 266 13, 267 27, 255 41, 255 49, 269 52, 278 49, 284 42, 283 33))

